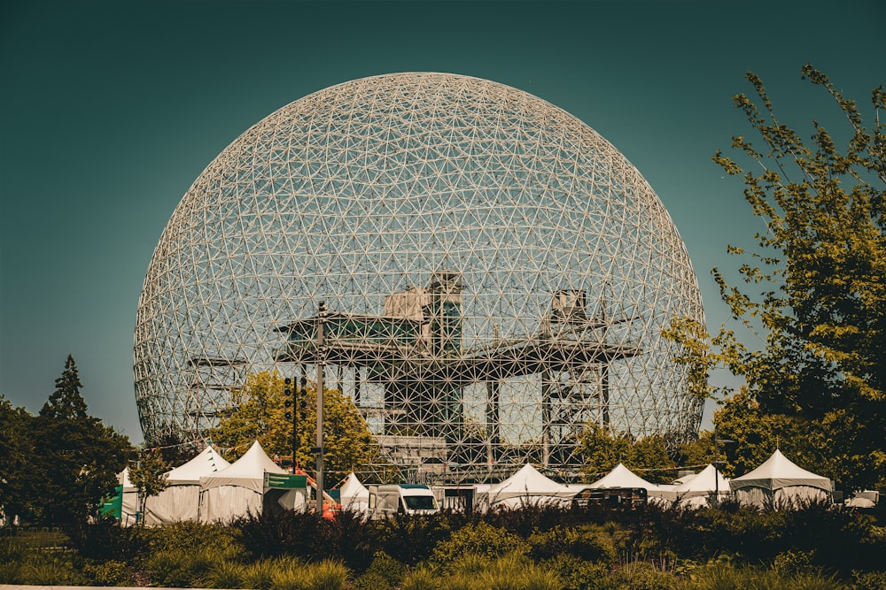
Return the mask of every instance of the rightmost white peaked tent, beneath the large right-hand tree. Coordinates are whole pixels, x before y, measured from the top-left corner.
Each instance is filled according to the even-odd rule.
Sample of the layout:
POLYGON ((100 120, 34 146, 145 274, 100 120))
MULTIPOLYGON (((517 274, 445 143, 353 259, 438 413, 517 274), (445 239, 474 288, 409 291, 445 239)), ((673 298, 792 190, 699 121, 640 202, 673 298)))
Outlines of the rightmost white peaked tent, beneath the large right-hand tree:
POLYGON ((738 502, 756 506, 827 500, 831 493, 830 479, 804 470, 778 449, 754 471, 732 479, 729 486, 738 502))

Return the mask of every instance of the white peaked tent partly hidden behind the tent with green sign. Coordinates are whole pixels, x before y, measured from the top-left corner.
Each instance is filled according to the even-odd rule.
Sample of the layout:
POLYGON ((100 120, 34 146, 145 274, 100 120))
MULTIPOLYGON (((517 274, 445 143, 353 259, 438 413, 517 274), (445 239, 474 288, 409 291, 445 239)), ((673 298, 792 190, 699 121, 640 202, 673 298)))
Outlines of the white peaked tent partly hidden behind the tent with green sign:
POLYGON ((144 502, 145 525, 170 525, 197 520, 200 508, 200 478, 230 464, 214 448, 206 446, 188 463, 167 471, 167 487, 144 502))

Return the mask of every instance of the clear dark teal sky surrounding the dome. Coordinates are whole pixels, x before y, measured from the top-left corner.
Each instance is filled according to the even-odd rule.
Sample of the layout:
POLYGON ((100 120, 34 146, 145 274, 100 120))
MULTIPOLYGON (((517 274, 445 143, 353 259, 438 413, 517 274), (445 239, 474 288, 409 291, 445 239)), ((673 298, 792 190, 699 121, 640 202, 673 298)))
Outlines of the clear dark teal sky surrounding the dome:
MULTIPOLYGON (((804 130, 833 108, 812 62, 870 113, 886 2, 307 3, 7 0, 0 5, 0 394, 38 411, 68 354, 92 415, 142 441, 132 379, 144 273, 176 204, 270 112, 369 75, 462 73, 540 96, 602 134, 670 211, 709 329, 711 267, 760 229, 711 163, 750 130, 759 73, 804 130)), ((728 383, 722 375, 717 379, 728 383)), ((711 404, 703 425, 710 425, 711 404)))

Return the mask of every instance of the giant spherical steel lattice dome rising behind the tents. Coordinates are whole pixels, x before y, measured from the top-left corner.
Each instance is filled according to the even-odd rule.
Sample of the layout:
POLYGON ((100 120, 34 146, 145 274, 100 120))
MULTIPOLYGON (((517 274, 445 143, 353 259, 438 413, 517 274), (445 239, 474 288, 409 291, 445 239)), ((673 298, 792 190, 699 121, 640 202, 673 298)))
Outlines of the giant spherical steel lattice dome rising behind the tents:
POLYGON ((136 401, 145 441, 201 436, 248 373, 323 361, 393 461, 567 466, 588 422, 697 431, 675 317, 703 323, 695 272, 609 142, 492 81, 383 75, 269 115, 184 195, 136 401))

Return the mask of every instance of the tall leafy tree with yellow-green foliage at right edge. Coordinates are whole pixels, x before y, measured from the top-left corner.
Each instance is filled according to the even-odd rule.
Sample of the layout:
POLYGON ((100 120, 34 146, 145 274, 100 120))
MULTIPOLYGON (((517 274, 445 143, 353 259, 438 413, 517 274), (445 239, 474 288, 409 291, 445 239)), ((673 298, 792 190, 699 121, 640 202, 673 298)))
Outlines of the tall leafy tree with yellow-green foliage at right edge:
POLYGON ((886 480, 886 124, 879 119, 886 92, 872 93, 869 131, 856 103, 826 76, 812 65, 802 73, 834 99, 840 126, 813 121, 805 142, 748 73, 756 96, 736 95, 734 103, 764 147, 735 136, 742 163, 714 157, 728 174, 743 175, 745 199, 766 225, 739 268, 745 290, 713 271, 733 318, 765 346, 745 347, 729 330, 714 344, 764 415, 797 421, 822 475, 860 489, 886 480))

